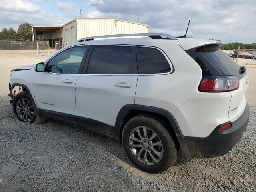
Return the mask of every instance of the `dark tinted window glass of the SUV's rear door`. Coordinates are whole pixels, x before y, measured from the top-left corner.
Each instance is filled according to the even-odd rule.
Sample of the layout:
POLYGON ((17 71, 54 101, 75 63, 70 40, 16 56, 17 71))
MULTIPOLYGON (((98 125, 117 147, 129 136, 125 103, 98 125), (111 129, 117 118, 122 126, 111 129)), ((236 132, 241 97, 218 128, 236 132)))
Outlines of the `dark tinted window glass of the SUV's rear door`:
POLYGON ((132 47, 94 46, 88 64, 88 74, 131 74, 132 47))

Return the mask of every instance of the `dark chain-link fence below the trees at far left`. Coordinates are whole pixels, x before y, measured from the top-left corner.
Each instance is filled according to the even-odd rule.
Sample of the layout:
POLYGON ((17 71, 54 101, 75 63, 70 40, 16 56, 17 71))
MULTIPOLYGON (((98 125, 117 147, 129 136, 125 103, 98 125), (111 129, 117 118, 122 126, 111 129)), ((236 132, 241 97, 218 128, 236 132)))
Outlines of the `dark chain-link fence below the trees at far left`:
POLYGON ((0 50, 12 50, 12 49, 26 49, 26 50, 36 50, 36 43, 40 50, 47 50, 48 41, 0 41, 0 50))

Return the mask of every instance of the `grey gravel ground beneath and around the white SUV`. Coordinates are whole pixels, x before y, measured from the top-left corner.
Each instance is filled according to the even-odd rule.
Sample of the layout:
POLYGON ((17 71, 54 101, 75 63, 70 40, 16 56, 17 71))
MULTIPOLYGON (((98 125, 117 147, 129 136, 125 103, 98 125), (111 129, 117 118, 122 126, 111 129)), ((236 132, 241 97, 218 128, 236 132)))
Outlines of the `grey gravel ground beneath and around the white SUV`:
MULTIPOLYGON (((241 141, 218 158, 186 158, 181 152, 176 164, 161 174, 138 170, 120 143, 102 134, 57 120, 41 125, 19 122, 5 88, 0 92, 0 192, 254 192, 256 68, 247 71, 251 113, 241 141)), ((1 82, 8 79, 1 77, 1 82)))

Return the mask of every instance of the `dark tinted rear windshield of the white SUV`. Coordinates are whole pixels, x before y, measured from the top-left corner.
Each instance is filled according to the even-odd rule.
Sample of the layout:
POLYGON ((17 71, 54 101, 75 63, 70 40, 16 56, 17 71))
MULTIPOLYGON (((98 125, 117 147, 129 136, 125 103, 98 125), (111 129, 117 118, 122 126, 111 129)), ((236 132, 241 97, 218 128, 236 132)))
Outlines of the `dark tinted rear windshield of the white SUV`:
POLYGON ((203 46, 196 49, 196 62, 204 76, 234 75, 242 78, 240 66, 218 46, 203 46))

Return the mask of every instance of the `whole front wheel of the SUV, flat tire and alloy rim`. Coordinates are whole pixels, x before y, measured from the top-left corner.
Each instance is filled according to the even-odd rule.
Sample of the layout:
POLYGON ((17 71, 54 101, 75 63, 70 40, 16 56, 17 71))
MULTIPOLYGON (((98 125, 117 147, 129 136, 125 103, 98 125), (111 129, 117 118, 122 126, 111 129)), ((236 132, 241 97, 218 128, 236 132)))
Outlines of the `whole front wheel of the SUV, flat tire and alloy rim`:
POLYGON ((41 124, 46 120, 36 114, 34 103, 26 91, 20 92, 14 97, 12 109, 20 121, 41 124))

